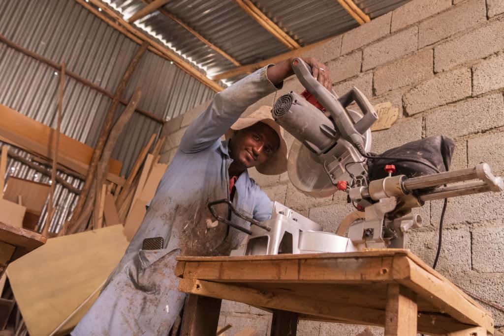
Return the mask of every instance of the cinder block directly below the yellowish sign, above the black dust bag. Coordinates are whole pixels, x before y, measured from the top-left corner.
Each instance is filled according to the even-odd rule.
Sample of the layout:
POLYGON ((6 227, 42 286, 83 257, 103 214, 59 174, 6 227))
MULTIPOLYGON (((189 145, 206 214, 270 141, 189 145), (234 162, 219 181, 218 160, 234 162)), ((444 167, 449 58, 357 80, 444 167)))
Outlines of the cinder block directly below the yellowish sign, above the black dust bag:
POLYGON ((422 118, 399 119, 389 129, 371 133, 372 151, 383 153, 407 142, 422 138, 422 118))

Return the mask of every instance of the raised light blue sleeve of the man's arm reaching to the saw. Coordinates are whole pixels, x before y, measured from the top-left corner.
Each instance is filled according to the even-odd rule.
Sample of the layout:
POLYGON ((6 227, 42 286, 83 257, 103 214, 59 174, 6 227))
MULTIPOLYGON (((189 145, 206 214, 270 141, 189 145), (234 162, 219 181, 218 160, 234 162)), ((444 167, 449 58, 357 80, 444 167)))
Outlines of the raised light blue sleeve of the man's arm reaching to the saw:
MULTIPOLYGON (((272 64, 270 64, 272 65, 272 64)), ((210 147, 250 105, 282 88, 268 79, 265 66, 217 93, 207 109, 187 128, 180 150, 195 153, 210 147)))

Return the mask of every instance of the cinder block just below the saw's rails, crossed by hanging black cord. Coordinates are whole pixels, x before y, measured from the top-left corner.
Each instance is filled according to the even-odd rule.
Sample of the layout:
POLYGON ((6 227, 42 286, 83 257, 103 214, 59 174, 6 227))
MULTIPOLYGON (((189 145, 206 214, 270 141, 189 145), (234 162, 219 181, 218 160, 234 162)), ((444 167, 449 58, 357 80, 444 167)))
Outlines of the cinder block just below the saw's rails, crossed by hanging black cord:
MULTIPOLYGON (((502 218, 504 193, 473 194, 448 199, 443 225, 480 223, 502 218)), ((439 224, 443 200, 430 202, 430 220, 433 226, 439 224)))

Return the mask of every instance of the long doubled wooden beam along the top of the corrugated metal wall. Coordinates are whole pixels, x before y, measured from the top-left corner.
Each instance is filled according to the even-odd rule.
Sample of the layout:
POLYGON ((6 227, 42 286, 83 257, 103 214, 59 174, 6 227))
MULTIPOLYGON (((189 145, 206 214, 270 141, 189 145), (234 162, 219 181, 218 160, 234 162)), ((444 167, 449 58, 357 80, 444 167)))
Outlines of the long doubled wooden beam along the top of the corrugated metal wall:
POLYGON ((105 4, 103 4, 100 0, 89 0, 89 3, 93 4, 94 6, 100 8, 102 12, 99 12, 91 6, 89 3, 87 3, 85 0, 75 0, 77 3, 85 7, 87 10, 89 10, 91 13, 99 17, 101 20, 105 21, 107 24, 109 24, 111 27, 115 28, 119 32, 123 33, 124 35, 128 36, 130 39, 135 41, 138 44, 142 44, 144 41, 149 42, 150 46, 148 47, 148 50, 165 58, 170 61, 173 61, 179 68, 187 72, 188 74, 192 75, 202 83, 204 83, 206 86, 208 86, 210 89, 220 92, 223 90, 223 88, 213 81, 212 79, 208 78, 205 76, 203 73, 198 71, 196 68, 194 68, 191 64, 188 62, 184 61, 182 58, 180 58, 177 54, 175 54, 173 51, 169 50, 165 46, 163 46, 161 43, 155 41, 154 39, 148 37, 144 33, 138 31, 136 28, 134 28, 132 25, 130 25, 128 22, 123 20, 119 15, 117 15, 113 10, 108 8, 105 4), (106 13, 109 17, 105 16, 103 13, 106 13))

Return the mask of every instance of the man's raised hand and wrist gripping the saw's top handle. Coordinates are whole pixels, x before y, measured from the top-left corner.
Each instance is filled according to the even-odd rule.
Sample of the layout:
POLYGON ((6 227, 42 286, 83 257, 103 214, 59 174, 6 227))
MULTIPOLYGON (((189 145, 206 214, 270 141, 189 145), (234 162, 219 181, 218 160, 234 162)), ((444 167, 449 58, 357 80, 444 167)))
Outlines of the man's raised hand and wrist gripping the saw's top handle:
MULTIPOLYGON (((323 63, 319 62, 315 58, 306 57, 301 58, 303 61, 308 64, 311 68, 311 73, 314 78, 317 80, 329 91, 332 90, 332 82, 331 78, 329 78, 329 69, 323 63)), ((277 85, 282 82, 288 76, 294 74, 294 70, 292 70, 292 61, 294 58, 290 58, 283 62, 277 63, 273 66, 270 66, 267 70, 268 79, 274 84, 277 85)))

